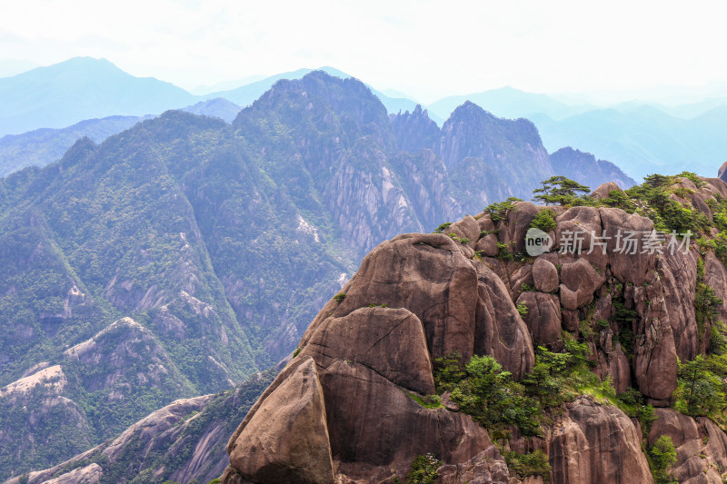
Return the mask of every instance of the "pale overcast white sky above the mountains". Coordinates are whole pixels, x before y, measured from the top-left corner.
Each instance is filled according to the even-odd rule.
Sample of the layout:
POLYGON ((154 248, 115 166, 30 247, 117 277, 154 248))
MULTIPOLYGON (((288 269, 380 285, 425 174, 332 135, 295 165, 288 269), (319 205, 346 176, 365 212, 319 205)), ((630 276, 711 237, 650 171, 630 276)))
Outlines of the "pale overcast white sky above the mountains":
POLYGON ((723 1, 0 0, 0 63, 105 57, 194 88, 334 66, 424 102, 727 81, 723 1))

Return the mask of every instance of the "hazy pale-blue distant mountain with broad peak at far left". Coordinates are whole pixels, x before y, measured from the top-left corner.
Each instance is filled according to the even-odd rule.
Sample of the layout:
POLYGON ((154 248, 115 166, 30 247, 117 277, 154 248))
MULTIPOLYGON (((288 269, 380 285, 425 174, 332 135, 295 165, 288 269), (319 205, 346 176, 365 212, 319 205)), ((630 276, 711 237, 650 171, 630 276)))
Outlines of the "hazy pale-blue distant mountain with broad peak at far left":
POLYGON ((0 79, 0 135, 61 128, 110 115, 161 114, 201 98, 105 59, 75 57, 0 79))

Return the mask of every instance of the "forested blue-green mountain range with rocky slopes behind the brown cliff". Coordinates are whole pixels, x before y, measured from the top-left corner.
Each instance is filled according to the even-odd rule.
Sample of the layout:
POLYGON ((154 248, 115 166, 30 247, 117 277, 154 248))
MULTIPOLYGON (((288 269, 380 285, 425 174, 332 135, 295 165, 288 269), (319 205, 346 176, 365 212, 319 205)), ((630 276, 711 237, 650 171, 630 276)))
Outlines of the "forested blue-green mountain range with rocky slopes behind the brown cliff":
POLYGON ((465 103, 440 128, 316 71, 232 123, 168 111, 0 179, 0 478, 269 368, 378 243, 555 167, 633 183, 527 120, 465 103))

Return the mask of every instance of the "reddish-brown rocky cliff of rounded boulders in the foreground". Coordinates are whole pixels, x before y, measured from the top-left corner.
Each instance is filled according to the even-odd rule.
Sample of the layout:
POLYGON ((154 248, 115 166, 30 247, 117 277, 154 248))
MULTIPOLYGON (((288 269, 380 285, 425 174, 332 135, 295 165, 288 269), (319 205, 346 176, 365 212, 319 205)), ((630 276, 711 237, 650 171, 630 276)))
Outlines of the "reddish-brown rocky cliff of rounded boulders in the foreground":
MULTIPOLYGON (((709 221, 719 218, 726 183, 672 182, 663 193, 683 210, 698 218, 698 199, 712 207, 709 221), (694 202, 683 198, 688 186, 694 202)), ((449 235, 381 243, 234 432, 223 482, 403 482, 422 455, 437 462, 438 483, 641 484, 662 471, 680 482, 720 482, 727 435, 715 421, 672 407, 682 408, 678 361, 700 361, 718 344, 705 325, 727 316, 722 301, 712 301, 713 318, 700 301, 703 281, 721 280, 724 265, 704 242, 676 251, 667 249, 683 241, 672 235, 650 242, 658 232, 644 216, 653 217, 648 207, 594 205, 553 207, 553 250, 536 257, 521 252, 525 232, 549 209, 529 202, 466 217, 445 229, 449 235), (634 253, 619 245, 627 232, 640 234, 634 253), (580 251, 569 250, 573 240, 580 251), (595 386, 576 384, 569 397, 547 403, 562 389, 538 386, 548 381, 540 371, 557 371, 544 361, 575 354, 588 361, 578 378, 595 373, 595 386), (477 355, 493 357, 545 399, 537 431, 473 410, 471 388, 441 390, 443 359, 453 365, 477 355), (644 420, 626 401, 656 407, 655 416, 644 420), (668 469, 647 459, 662 436, 676 448, 668 469), (537 469, 534 460, 523 465, 533 456, 543 456, 537 469)), ((660 230, 672 222, 657 220, 660 230)))

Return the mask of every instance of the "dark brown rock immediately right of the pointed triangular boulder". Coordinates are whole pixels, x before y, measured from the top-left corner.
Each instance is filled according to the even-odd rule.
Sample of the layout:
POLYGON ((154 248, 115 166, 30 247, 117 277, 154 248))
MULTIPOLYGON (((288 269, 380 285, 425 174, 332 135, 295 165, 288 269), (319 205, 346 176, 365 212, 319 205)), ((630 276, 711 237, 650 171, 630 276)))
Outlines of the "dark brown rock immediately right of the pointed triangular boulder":
MULTIPOLYGON (((469 416, 425 409, 363 365, 335 361, 322 371, 321 384, 325 401, 331 402, 331 449, 342 462, 378 466, 386 475, 401 469, 403 477, 417 455, 432 452, 447 462, 463 462, 492 445, 487 431, 469 416)), ((354 477, 355 471, 345 473, 354 477)))

